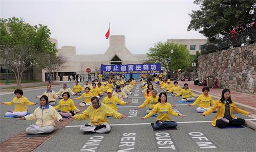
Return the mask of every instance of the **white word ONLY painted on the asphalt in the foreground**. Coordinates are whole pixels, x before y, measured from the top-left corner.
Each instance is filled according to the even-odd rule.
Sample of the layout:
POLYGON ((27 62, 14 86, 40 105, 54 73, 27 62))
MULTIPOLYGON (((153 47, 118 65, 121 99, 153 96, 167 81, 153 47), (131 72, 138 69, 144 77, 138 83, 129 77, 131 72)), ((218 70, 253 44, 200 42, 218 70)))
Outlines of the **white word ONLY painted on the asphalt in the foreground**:
POLYGON ((92 151, 95 152, 98 146, 100 145, 103 136, 92 136, 89 138, 89 140, 82 146, 82 149, 80 151, 92 151))

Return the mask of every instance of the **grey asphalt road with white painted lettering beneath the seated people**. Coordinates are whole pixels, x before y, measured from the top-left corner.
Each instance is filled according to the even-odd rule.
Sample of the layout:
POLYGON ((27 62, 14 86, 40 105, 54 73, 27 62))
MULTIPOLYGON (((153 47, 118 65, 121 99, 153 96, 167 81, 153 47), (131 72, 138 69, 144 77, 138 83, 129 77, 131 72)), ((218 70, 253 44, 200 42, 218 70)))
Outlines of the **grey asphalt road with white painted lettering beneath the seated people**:
MULTIPOLYGON (((60 87, 53 88, 54 91, 59 89, 60 87)), ((38 99, 33 99, 33 97, 44 91, 45 89, 26 91, 24 96, 30 101, 38 102, 38 99)), ((178 103, 177 99, 181 97, 168 97, 168 102, 177 105, 175 109, 187 115, 185 118, 171 116, 174 121, 178 122, 178 130, 154 132, 150 123, 155 122, 156 117, 139 120, 145 115, 147 107, 134 111, 144 101, 140 92, 141 89, 136 86, 133 94, 129 96, 131 98, 127 99, 133 103, 118 106, 118 112, 129 117, 125 120, 109 119, 111 124, 109 134, 83 135, 79 126, 88 123, 89 120, 72 121, 34 151, 256 151, 256 132, 253 129, 213 127, 210 121, 215 113, 203 117, 194 112, 196 106, 190 107, 178 103)), ((10 101, 14 95, 7 94, 0 97, 0 101, 3 102, 10 101)), ((74 101, 79 102, 82 99, 74 101)), ((26 127, 34 123, 4 118, 4 113, 11 108, 6 105, 0 106, 1 141, 24 131, 26 127)), ((28 106, 29 112, 33 112, 35 108, 36 106, 28 106)), ((252 119, 241 114, 235 114, 235 116, 252 119)))

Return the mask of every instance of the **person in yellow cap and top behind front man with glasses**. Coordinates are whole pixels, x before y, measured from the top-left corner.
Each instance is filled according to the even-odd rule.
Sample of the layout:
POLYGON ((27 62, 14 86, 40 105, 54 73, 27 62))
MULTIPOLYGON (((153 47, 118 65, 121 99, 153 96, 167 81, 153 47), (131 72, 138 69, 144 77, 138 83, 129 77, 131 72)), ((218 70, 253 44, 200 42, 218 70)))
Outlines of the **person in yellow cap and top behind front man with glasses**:
POLYGON ((112 90, 109 89, 108 91, 106 91, 106 93, 108 93, 108 96, 106 96, 101 103, 106 104, 108 106, 110 106, 111 108, 113 108, 113 110, 117 111, 117 107, 116 107, 116 103, 120 104, 120 105, 126 105, 129 104, 131 102, 124 102, 121 101, 120 99, 118 99, 117 97, 112 95, 112 90))

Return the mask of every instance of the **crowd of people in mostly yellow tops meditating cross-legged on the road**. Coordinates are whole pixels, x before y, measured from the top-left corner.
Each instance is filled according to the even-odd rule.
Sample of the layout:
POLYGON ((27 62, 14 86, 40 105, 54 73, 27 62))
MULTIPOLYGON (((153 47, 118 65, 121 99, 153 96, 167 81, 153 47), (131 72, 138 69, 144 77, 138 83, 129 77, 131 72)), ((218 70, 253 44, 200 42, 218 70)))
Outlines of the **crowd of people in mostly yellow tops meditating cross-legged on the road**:
MULTIPOLYGON (((177 81, 174 81, 174 83, 171 84, 169 79, 167 81, 161 81, 156 78, 155 82, 160 85, 160 89, 163 89, 163 92, 159 95, 156 90, 157 86, 153 86, 150 81, 145 82, 144 80, 141 80, 140 82, 142 87, 145 87, 146 85, 143 89, 145 100, 135 110, 140 110, 140 108, 149 105, 148 110, 146 110, 146 115, 140 119, 144 120, 157 114, 157 119, 153 127, 154 129, 176 127, 177 122, 170 119, 169 115, 186 117, 186 115, 177 113, 173 110, 172 106, 174 105, 168 103, 167 93, 172 94, 174 97, 182 96, 182 102, 184 103, 185 100, 195 100, 196 97, 188 89, 188 84, 184 84, 183 89, 181 89, 177 81), (144 85, 144 83, 146 84, 144 85), (191 98, 190 96, 193 96, 194 98, 191 98)), ((90 119, 90 123, 80 127, 81 131, 105 133, 109 132, 111 129, 108 117, 115 119, 125 119, 127 117, 126 115, 118 113, 117 104, 126 105, 130 103, 125 102, 124 100, 131 94, 131 90, 134 88, 135 83, 135 80, 132 79, 126 82, 123 80, 113 82, 112 80, 109 80, 108 82, 94 81, 92 84, 89 84, 87 81, 82 87, 81 85, 79 86, 78 81, 76 81, 73 89, 68 88, 67 84, 63 84, 63 88, 57 93, 51 90, 51 85, 48 85, 47 91, 44 94, 36 96, 36 98, 39 98, 40 105, 30 115, 27 115, 28 110, 26 104, 36 105, 37 103, 30 102, 23 96, 23 91, 20 89, 14 91, 15 97, 12 101, 0 102, 0 104, 14 104, 14 111, 8 111, 6 116, 20 116, 22 118, 18 118, 19 120, 36 121, 35 125, 32 124, 26 128, 28 134, 51 133, 56 127, 54 121, 65 121, 65 119, 90 119), (116 89, 113 91, 114 87, 116 89), (82 91, 84 93, 82 93, 82 91), (79 113, 79 110, 75 106, 74 101, 70 98, 71 95, 80 95, 74 99, 83 98, 84 101, 79 103, 79 105, 88 106, 81 114, 77 114, 79 113), (105 97, 100 101, 100 98, 103 96, 105 97), (61 100, 58 105, 56 105, 56 99, 58 98, 61 100)), ((252 112, 246 112, 238 108, 234 101, 231 100, 230 91, 228 89, 224 89, 221 98, 215 102, 208 94, 209 91, 208 87, 204 87, 202 89, 203 93, 197 100, 193 104, 188 105, 195 106, 199 104, 199 107, 196 110, 202 116, 217 112, 211 122, 213 126, 223 128, 228 125, 245 124, 244 119, 233 116, 233 111, 237 111, 244 115, 251 115, 252 112)))

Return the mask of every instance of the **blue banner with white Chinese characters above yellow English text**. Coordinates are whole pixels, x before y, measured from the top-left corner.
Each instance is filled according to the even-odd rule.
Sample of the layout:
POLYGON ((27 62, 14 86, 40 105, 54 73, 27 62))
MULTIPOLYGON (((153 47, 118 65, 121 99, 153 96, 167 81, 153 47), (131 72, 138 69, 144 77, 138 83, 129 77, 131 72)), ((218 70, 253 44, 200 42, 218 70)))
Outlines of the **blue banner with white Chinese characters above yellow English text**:
POLYGON ((101 64, 101 74, 161 73, 161 64, 101 64))

